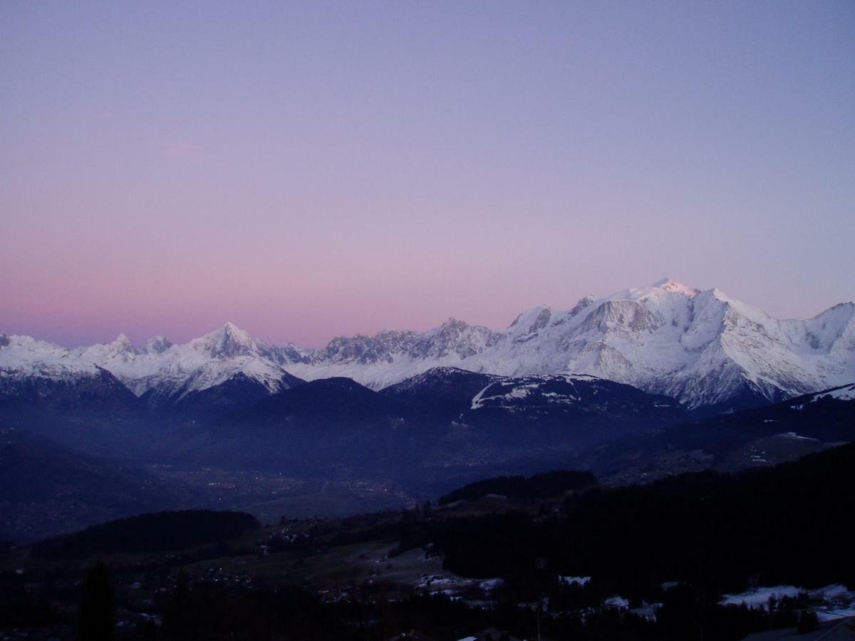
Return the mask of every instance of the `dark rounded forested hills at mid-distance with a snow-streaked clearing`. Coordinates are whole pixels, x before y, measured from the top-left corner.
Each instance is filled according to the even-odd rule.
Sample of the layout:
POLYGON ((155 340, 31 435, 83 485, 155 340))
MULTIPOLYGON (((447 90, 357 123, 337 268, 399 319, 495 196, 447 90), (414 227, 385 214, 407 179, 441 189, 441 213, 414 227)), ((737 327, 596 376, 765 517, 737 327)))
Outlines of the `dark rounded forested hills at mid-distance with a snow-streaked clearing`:
POLYGON ((613 381, 436 368, 380 392, 352 379, 310 381, 198 426, 185 447, 248 467, 345 466, 422 482, 425 469, 552 460, 685 420, 675 400, 613 381))

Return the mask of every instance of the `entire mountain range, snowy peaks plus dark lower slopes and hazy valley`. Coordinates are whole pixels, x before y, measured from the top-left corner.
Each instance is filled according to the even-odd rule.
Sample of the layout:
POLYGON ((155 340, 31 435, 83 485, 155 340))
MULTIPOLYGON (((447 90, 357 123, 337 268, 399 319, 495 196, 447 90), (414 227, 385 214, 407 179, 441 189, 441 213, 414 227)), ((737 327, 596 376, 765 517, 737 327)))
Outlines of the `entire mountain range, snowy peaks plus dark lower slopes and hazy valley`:
POLYGON ((0 533, 67 532, 138 499, 287 511, 304 482, 313 501, 350 484, 338 498, 358 511, 364 492, 388 506, 561 468, 621 484, 769 466, 853 439, 853 381, 855 304, 779 321, 669 279, 498 332, 451 320, 320 350, 232 323, 186 344, 76 349, 0 333, 0 533), (234 473, 274 480, 261 491, 234 473))

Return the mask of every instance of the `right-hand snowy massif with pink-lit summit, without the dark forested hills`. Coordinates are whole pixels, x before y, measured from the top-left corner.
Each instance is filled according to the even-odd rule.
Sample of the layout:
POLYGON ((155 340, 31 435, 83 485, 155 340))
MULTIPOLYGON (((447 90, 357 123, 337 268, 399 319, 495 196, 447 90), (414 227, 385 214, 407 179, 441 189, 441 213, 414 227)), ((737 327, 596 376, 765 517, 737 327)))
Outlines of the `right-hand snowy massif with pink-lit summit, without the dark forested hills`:
POLYGON ((855 379, 855 303, 781 321, 716 289, 663 279, 586 297, 567 311, 530 309, 503 332, 448 321, 423 334, 337 338, 331 347, 286 367, 304 379, 348 376, 375 389, 438 366, 504 376, 586 373, 693 409, 728 409, 855 379))

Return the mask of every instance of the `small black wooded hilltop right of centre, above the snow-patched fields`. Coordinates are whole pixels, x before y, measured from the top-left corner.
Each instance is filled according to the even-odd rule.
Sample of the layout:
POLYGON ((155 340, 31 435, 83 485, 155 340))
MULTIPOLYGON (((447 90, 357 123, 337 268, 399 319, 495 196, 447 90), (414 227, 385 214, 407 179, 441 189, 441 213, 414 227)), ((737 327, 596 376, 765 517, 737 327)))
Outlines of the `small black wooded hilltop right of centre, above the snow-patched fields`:
POLYGON ((439 497, 440 505, 455 501, 475 501, 487 494, 500 494, 510 498, 561 497, 568 491, 597 485, 597 477, 590 472, 556 470, 524 476, 498 476, 464 485, 458 490, 439 497))

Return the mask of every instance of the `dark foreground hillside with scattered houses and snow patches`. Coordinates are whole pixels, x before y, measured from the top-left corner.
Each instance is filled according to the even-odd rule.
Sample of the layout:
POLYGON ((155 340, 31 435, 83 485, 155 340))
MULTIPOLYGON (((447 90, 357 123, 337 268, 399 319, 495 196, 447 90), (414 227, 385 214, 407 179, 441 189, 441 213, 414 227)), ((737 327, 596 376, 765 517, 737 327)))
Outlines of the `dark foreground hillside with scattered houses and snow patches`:
POLYGON ((736 641, 811 629, 815 610, 843 606, 807 591, 830 585, 855 603, 853 468, 846 445, 565 499, 475 491, 441 508, 265 528, 233 513, 144 515, 0 555, 0 632, 73 637, 88 585, 74 578, 98 557, 127 639, 451 639, 492 628, 493 638, 736 641), (722 603, 750 585, 805 591, 758 609, 722 603))

